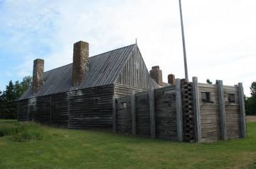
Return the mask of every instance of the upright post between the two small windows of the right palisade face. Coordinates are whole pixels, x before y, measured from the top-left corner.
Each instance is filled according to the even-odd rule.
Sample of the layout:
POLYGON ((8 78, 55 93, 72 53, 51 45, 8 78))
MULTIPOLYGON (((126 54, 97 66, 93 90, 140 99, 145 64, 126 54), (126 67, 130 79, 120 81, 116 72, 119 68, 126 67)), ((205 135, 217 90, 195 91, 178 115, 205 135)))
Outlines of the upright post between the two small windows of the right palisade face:
POLYGON ((223 95, 223 81, 218 81, 218 96, 219 96, 219 107, 220 107, 220 129, 221 139, 227 139, 227 129, 225 120, 225 101, 223 95))

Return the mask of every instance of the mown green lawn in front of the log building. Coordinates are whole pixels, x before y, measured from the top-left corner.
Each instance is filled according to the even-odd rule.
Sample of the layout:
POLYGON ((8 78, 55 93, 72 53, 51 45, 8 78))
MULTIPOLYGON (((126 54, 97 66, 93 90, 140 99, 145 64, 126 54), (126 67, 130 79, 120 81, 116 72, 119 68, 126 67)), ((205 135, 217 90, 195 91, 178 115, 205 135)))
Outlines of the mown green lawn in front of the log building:
MULTIPOLYGON (((4 123, 14 120, 0 120, 4 123)), ((17 142, 0 137, 0 168, 256 168, 256 122, 247 138, 191 144, 75 129, 17 142)))

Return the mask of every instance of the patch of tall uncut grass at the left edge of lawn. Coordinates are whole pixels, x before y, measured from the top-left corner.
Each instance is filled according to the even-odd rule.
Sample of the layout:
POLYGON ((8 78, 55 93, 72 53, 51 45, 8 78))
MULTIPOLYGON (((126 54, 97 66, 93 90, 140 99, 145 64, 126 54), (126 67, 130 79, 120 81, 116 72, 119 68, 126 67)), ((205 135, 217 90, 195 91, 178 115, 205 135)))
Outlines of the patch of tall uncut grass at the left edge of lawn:
POLYGON ((48 129, 36 122, 5 123, 0 125, 0 136, 7 136, 12 141, 30 141, 45 139, 48 129))

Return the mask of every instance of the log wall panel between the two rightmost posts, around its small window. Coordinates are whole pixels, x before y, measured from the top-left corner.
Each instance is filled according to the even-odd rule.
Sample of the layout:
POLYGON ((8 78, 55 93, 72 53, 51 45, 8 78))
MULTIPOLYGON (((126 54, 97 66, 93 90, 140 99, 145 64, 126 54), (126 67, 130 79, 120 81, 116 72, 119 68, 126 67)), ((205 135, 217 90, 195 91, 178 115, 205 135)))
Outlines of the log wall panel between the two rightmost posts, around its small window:
POLYGON ((238 87, 223 86, 227 138, 238 138, 241 134, 238 87), (235 94, 235 103, 228 103, 228 94, 235 94))

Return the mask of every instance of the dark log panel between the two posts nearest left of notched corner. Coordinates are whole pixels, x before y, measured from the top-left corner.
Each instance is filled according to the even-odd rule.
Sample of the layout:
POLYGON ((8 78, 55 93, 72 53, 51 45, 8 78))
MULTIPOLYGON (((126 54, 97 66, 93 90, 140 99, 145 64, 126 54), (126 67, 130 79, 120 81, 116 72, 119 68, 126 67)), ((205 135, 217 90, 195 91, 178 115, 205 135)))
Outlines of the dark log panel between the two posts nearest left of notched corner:
POLYGON ((175 86, 154 91, 156 138, 178 141, 175 86))

